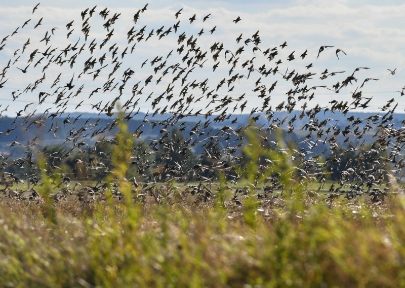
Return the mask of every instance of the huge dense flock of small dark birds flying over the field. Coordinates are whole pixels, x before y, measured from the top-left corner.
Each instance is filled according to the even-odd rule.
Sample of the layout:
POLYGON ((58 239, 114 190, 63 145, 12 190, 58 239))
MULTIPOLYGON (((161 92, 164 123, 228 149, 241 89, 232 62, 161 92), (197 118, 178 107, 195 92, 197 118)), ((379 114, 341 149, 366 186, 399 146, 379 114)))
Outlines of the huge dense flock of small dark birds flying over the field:
MULTIPOLYGON (((145 197, 151 195, 157 202, 161 198, 169 197, 168 195, 173 194, 175 190, 175 186, 169 184, 169 188, 167 188, 168 186, 160 188, 158 181, 163 174, 166 175, 167 183, 171 183, 173 180, 181 182, 187 175, 193 175, 199 184, 188 185, 186 192, 201 195, 201 199, 204 200, 212 197, 211 184, 218 180, 219 172, 223 172, 229 181, 237 184, 240 179, 244 178, 243 173, 235 169, 235 166, 242 163, 241 151, 247 144, 245 133, 248 129, 255 129, 260 137, 261 145, 279 152, 280 155, 288 154, 288 157, 294 160, 295 166, 292 169, 291 178, 297 185, 300 183, 304 185, 305 180, 325 183, 330 173, 325 170, 326 166, 330 164, 332 167, 339 167, 340 179, 331 187, 330 199, 339 195, 355 197, 367 194, 371 195, 375 202, 382 201, 390 189, 387 177, 393 176, 398 179, 402 177, 405 161, 401 153, 405 145, 405 128, 402 126, 398 128, 397 123, 393 123, 393 113, 398 105, 393 99, 382 105, 381 114, 375 114, 366 119, 348 117, 349 124, 346 127, 340 127, 338 121, 333 118, 324 120, 320 118, 320 115, 326 112, 347 115, 351 110, 369 107, 372 97, 364 96, 361 89, 367 85, 367 82, 378 81, 378 79, 366 78, 362 81, 357 79, 358 71, 366 71, 369 67, 357 67, 347 75, 345 75, 345 71, 325 69, 320 74, 319 81, 332 77, 339 77, 339 81, 332 86, 309 87, 307 83, 316 75, 311 72, 313 63, 302 67, 302 71, 298 71, 298 69, 289 71, 287 68, 285 73, 282 72, 285 69, 282 64, 294 61, 298 55, 300 56, 297 58, 305 59, 308 50, 302 54, 296 54, 295 51, 289 52, 290 54, 287 53, 289 55, 286 58, 281 59, 281 51, 286 49, 287 42, 275 47, 263 47, 259 30, 252 35, 240 33, 235 39, 235 43, 239 46, 237 49, 227 49, 227 44, 221 42, 214 42, 208 49, 205 49, 203 44, 206 44, 209 39, 200 40, 201 36, 215 33, 216 26, 209 29, 203 28, 196 34, 180 32, 184 22, 187 22, 187 25, 194 21, 209 22, 211 14, 201 18, 194 14, 188 18, 188 21, 187 19, 179 20, 178 18, 184 14, 180 9, 173 15, 173 25, 150 28, 147 25, 139 24, 143 13, 148 9, 146 4, 136 11, 132 23, 126 23, 129 25, 126 34, 127 44, 118 46, 117 43, 112 43, 112 39, 116 33, 114 27, 119 22, 120 13, 113 13, 108 8, 100 9, 95 6, 81 12, 81 23, 72 20, 64 27, 53 27, 50 30, 41 31, 41 25, 45 19, 35 19, 37 9, 41 9, 39 4, 33 8, 32 18, 21 23, 0 43, 1 51, 7 48, 16 33, 29 27, 34 30, 32 33, 36 31, 45 33, 43 39, 39 41, 45 44, 45 47, 43 44, 38 48, 31 47, 31 40, 28 38, 19 49, 15 50, 12 58, 1 70, 0 91, 7 88, 9 84, 8 73, 10 70, 19 70, 25 75, 30 74, 31 70, 36 67, 36 70, 42 68, 40 77, 29 83, 26 88, 13 89, 11 97, 13 97, 13 101, 16 101, 15 103, 28 93, 38 95, 37 103, 27 104, 17 113, 16 119, 10 127, 2 127, 0 140, 2 136, 12 134, 17 125, 21 125, 25 130, 29 127, 31 129, 41 128, 49 121, 55 119, 61 121, 60 119, 63 118, 63 126, 72 127, 67 135, 63 135, 65 143, 71 143, 72 149, 48 152, 47 147, 42 147, 37 140, 38 137, 40 138, 39 135, 29 141, 27 145, 18 142, 18 139, 9 143, 7 147, 22 146, 26 149, 24 157, 18 159, 8 159, 5 154, 0 156, 3 170, 0 185, 3 187, 4 195, 10 198, 20 200, 40 198, 35 190, 37 185, 41 185, 41 171, 35 161, 38 152, 42 152, 45 157, 51 159, 51 163, 75 154, 76 162, 92 169, 93 174, 112 173, 102 161, 102 159, 109 158, 110 155, 98 151, 98 145, 114 143, 114 138, 104 137, 105 133, 116 127, 119 121, 133 119, 141 112, 141 104, 145 103, 149 105, 150 111, 146 113, 142 124, 130 132, 134 137, 141 137, 143 128, 150 125, 160 127, 159 135, 153 139, 146 139, 147 148, 133 148, 133 156, 129 159, 129 163, 131 167, 135 167, 136 173, 128 181, 133 184, 134 189, 141 191, 137 195, 145 195, 145 197), (105 37, 102 39, 92 37, 91 22, 95 17, 98 18, 98 21, 103 22, 105 37), (74 30, 75 33, 73 33, 74 30), (83 35, 70 42, 77 32, 81 32, 83 35), (56 34, 66 34, 69 44, 66 47, 60 47, 59 42, 53 42, 56 34), (176 36, 171 37, 170 35, 176 36), (138 57, 136 56, 138 46, 146 45, 145 43, 148 41, 171 41, 173 39, 176 50, 173 49, 164 55, 157 55, 153 59, 146 59, 139 66, 128 66, 135 63, 133 58, 131 58, 132 60, 129 58, 130 55, 138 57), (179 61, 176 62, 177 60, 179 61), (24 61, 27 62, 24 64, 24 61), (150 75, 144 76, 140 81, 133 80, 137 75, 143 77, 142 69, 147 70, 147 68, 153 70, 150 75), (52 73, 48 74, 48 69, 53 69, 52 73), (198 70, 203 69, 209 70, 210 76, 206 79, 199 79, 198 70), (282 71, 280 71, 281 69, 282 71), (224 70, 226 76, 218 77, 217 75, 221 75, 220 72, 224 70), (55 74, 56 77, 54 77, 55 71, 58 71, 56 73, 58 75, 55 74), (195 78, 194 75, 196 75, 195 78), (341 75, 344 76, 341 77, 341 75), (103 77, 105 78, 102 79, 103 77), (49 78, 52 78, 52 81, 48 85, 46 79, 49 80, 49 78), (83 79, 90 79, 90 81, 80 82, 83 79), (163 83, 165 88, 159 91, 163 83), (359 83, 361 85, 355 88, 359 83), (92 87, 89 93, 86 92, 85 85, 87 88, 92 87), (272 92, 277 85, 289 85, 291 89, 281 97, 279 104, 272 106, 270 105, 270 101, 274 100, 272 92), (336 98, 325 107, 319 104, 311 105, 310 101, 315 97, 316 89, 328 89, 333 93, 339 93, 341 89, 348 88, 349 85, 354 85, 354 92, 350 92, 351 101, 339 101, 336 98), (254 96, 244 93, 234 97, 231 92, 232 94, 238 93, 238 86, 250 87, 249 89, 252 91, 250 93, 253 93, 254 96), (148 89, 153 89, 153 91, 150 94, 145 93, 148 89), (73 119, 67 115, 66 109, 68 105, 84 94, 87 94, 84 96, 84 100, 74 103, 75 109, 78 109, 80 105, 90 103, 93 111, 110 117, 111 121, 106 126, 100 127, 100 119, 89 118, 83 127, 74 128, 73 124, 81 115, 73 119), (110 95, 113 95, 114 98, 106 101, 105 99, 110 95), (99 99, 97 103, 92 102, 95 98, 99 99), (50 103, 49 101, 52 106, 48 109, 42 112, 35 110, 27 113, 30 105, 36 104, 37 107, 41 107, 50 103), (119 107, 124 111, 120 118, 118 114, 114 113, 118 103, 121 103, 119 107), (201 103, 208 103, 208 105, 198 106, 201 103), (234 114, 243 113, 247 106, 252 106, 252 103, 259 103, 259 105, 253 107, 250 112, 248 111, 251 118, 250 123, 240 125, 239 128, 230 125, 221 127, 221 123, 227 120, 232 120, 231 123, 237 125, 237 115, 234 114), (199 107, 201 108, 199 109, 199 107), (287 117, 276 118, 275 112, 280 111, 286 111, 287 117), (299 111, 300 114, 294 113, 296 111, 299 111), (156 120, 154 118, 156 115, 167 116, 167 118, 156 120), (193 117, 198 116, 203 116, 205 121, 192 122, 193 117), (21 121, 17 121, 19 119, 21 121), (263 119, 265 124, 262 124, 263 119), (306 124, 303 127, 295 127, 297 119, 306 119, 306 124), (218 132, 214 133, 213 129, 210 130, 213 125, 220 127, 218 132), (178 140, 180 138, 173 135, 172 127, 177 127, 177 131, 187 129, 189 135, 178 140), (282 139, 271 137, 278 130, 289 134, 293 133, 295 128, 306 133, 305 140, 300 143, 301 148, 283 148, 280 145, 282 139), (368 144, 365 135, 370 131, 375 134, 373 140, 368 144), (87 160, 86 151, 82 151, 82 149, 89 148, 89 142, 95 139, 97 139, 96 144, 92 151, 89 151, 92 157, 87 160), (193 163, 191 167, 187 166, 186 163, 196 145, 201 145, 204 152, 199 155, 196 163, 193 163), (159 147, 160 149, 158 149, 159 147), (212 149, 213 147, 217 149, 212 149), (322 147, 322 152, 314 153, 316 147, 322 147), (159 161, 156 159, 172 160, 173 153, 182 155, 179 162, 167 161, 165 165, 160 165, 159 169, 154 168, 152 175, 146 172, 151 167, 156 167, 156 161, 159 161), (349 159, 344 166, 340 165, 348 153, 352 153, 354 157, 349 159), (157 157, 150 160, 149 156, 152 154, 157 157), (207 164, 207 159, 211 160, 210 164, 207 164), (321 159, 325 161, 320 161, 321 159), (24 175, 7 172, 10 166, 28 167, 30 172, 24 175), (13 188, 15 185, 17 189, 13 188)), ((239 21, 242 19, 237 17, 233 20, 233 24, 239 25, 239 21)), ((316 59, 322 57, 326 53, 325 51, 332 49, 338 60, 339 56, 346 55, 341 48, 336 50, 335 48, 334 46, 321 46, 316 59)), ((395 69, 388 70, 389 74, 395 74, 395 69)), ((398 91, 400 95, 404 94, 404 90, 405 87, 398 91)), ((7 109, 8 107, 0 112, 0 117, 7 109)), ((402 121, 403 124, 405 121, 402 121)), ((52 122, 48 133, 54 133, 55 137, 56 135, 61 136, 58 133, 59 125, 57 121, 52 122)), ((258 174, 271 168, 275 164, 274 161, 274 159, 267 159, 261 163, 258 174)), ((71 171, 62 173, 60 168, 54 164, 48 167, 47 173, 60 175, 61 183, 55 188, 58 192, 54 194, 57 200, 62 200, 69 194, 75 195, 76 199, 86 203, 105 197, 108 186, 103 181, 96 185, 82 186, 78 182, 72 184, 75 179, 71 181, 71 171)), ((248 192, 246 189, 236 189, 234 200, 240 203, 237 199, 237 195, 240 193, 256 193, 259 198, 265 199, 270 197, 275 190, 282 189, 276 173, 267 177, 263 188, 259 189, 256 187, 257 185, 258 183, 251 183, 248 192)), ((122 197, 119 187, 116 185, 112 185, 112 187, 114 197, 122 197)), ((319 186, 320 188, 321 186, 319 186)))

